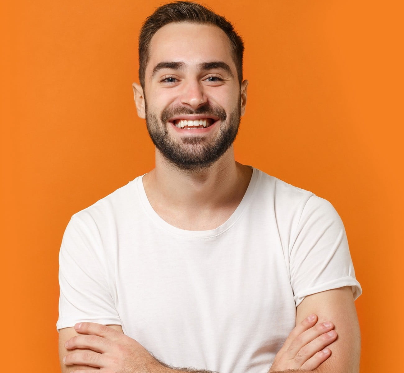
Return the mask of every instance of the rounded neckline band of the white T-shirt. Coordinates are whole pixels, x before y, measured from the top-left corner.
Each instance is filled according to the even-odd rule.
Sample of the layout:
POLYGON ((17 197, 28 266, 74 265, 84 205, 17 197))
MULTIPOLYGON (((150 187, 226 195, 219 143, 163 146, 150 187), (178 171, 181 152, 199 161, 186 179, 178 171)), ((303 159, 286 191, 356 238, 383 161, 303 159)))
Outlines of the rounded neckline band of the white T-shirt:
MULTIPOLYGON (((250 166, 251 167, 251 166, 250 166)), ((151 221, 158 225, 160 228, 164 229, 171 234, 177 236, 183 236, 188 238, 210 238, 215 237, 220 234, 223 234, 225 231, 229 230, 237 221, 240 219, 246 207, 250 204, 252 196, 254 195, 255 187, 257 185, 258 180, 261 177, 261 173, 259 170, 251 167, 252 175, 250 179, 250 183, 248 184, 247 190, 240 202, 240 204, 236 207, 234 212, 231 214, 229 219, 227 219, 223 224, 219 225, 217 228, 211 230, 185 230, 181 228, 177 228, 174 225, 167 223, 156 211, 154 211, 153 207, 147 198, 145 188, 143 186, 143 176, 139 176, 136 179, 137 184, 137 192, 139 194, 139 200, 141 201, 142 207, 145 210, 145 213, 151 219, 151 221)))

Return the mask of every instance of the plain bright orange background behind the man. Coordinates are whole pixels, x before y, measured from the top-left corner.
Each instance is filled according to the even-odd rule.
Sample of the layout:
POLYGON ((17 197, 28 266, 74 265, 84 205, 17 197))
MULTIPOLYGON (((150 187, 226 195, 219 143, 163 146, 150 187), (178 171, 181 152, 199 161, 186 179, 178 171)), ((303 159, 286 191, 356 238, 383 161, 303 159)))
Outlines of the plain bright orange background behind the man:
MULTIPOLYGON (((236 158, 334 204, 364 291, 356 302, 361 372, 400 369, 402 8, 206 3, 246 45, 250 85, 236 158)), ((2 371, 59 371, 64 228, 73 213, 153 167, 131 83, 141 22, 159 4, 17 0, 0 9, 2 371)))

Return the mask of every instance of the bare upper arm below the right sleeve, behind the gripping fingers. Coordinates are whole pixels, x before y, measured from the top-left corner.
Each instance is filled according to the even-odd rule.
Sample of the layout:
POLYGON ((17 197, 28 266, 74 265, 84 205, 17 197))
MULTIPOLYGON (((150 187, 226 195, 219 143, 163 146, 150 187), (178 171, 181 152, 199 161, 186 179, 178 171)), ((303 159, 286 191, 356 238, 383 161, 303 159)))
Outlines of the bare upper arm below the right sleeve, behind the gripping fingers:
POLYGON ((331 356, 318 367, 318 371, 358 373, 360 330, 351 287, 308 295, 297 306, 296 323, 312 313, 318 315, 319 322, 333 322, 338 335, 329 346, 331 356))

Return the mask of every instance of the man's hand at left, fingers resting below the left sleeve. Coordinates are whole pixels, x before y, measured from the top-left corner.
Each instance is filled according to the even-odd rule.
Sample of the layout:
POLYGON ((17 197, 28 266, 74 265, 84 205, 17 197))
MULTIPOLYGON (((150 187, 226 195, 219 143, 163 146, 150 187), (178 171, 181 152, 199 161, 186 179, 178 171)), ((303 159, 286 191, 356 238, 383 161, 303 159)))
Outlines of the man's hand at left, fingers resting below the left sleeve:
POLYGON ((76 369, 74 373, 148 373, 164 372, 166 368, 135 339, 105 325, 80 322, 74 326, 80 335, 65 343, 67 350, 75 351, 63 359, 65 365, 88 365, 94 370, 76 369), (98 369, 99 368, 99 369, 98 369))

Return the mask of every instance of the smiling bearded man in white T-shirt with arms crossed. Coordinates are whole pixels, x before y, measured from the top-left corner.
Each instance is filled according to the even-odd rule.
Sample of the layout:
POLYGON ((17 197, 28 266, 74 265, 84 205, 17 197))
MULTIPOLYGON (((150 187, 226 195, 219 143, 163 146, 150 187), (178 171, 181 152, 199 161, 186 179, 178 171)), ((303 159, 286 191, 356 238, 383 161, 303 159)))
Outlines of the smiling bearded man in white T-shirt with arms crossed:
POLYGON ((242 54, 199 4, 145 21, 134 92, 156 167, 66 229, 63 372, 358 371, 361 290, 337 213, 234 160, 242 54))

